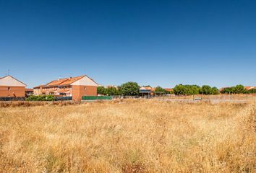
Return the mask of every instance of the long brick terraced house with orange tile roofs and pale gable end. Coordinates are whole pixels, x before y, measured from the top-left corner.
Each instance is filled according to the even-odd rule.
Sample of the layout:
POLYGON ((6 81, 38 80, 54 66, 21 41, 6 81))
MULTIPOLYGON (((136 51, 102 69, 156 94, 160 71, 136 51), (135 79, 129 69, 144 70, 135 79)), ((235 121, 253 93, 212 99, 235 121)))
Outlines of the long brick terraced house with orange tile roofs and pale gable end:
POLYGON ((50 81, 46 85, 34 87, 34 94, 51 94, 55 96, 72 97, 74 101, 80 101, 82 96, 97 96, 98 84, 88 76, 69 77, 50 81))

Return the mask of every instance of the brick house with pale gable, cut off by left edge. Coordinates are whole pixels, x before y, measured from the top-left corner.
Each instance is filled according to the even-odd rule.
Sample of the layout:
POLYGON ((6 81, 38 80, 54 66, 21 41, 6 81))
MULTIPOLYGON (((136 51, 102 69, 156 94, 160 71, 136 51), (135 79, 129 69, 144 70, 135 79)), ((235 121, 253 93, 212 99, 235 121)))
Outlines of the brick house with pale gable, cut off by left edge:
POLYGON ((26 84, 12 76, 0 78, 0 97, 25 97, 26 84))

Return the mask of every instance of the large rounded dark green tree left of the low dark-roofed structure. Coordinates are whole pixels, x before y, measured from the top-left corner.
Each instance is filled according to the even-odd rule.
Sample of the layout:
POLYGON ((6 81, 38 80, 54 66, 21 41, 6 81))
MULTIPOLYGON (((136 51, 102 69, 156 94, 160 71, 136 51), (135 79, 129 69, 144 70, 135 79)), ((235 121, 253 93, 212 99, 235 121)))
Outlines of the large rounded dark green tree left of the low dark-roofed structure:
POLYGON ((139 94, 140 86, 137 84, 137 82, 129 81, 125 84, 121 84, 120 91, 123 95, 135 96, 139 94))

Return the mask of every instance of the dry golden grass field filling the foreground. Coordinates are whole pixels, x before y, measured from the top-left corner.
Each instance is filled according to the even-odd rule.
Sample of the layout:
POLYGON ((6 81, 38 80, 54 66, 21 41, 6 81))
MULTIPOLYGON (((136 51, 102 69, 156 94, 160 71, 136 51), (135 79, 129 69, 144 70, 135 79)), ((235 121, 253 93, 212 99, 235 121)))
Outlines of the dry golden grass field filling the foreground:
POLYGON ((255 172, 255 103, 0 107, 0 172, 255 172))

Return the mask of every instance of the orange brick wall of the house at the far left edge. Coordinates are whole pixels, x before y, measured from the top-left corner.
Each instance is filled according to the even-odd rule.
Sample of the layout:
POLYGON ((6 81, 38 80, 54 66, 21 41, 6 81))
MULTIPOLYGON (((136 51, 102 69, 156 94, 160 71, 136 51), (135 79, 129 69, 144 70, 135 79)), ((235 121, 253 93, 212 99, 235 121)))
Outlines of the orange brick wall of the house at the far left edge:
POLYGON ((25 97, 25 86, 0 86, 0 97, 25 97))

